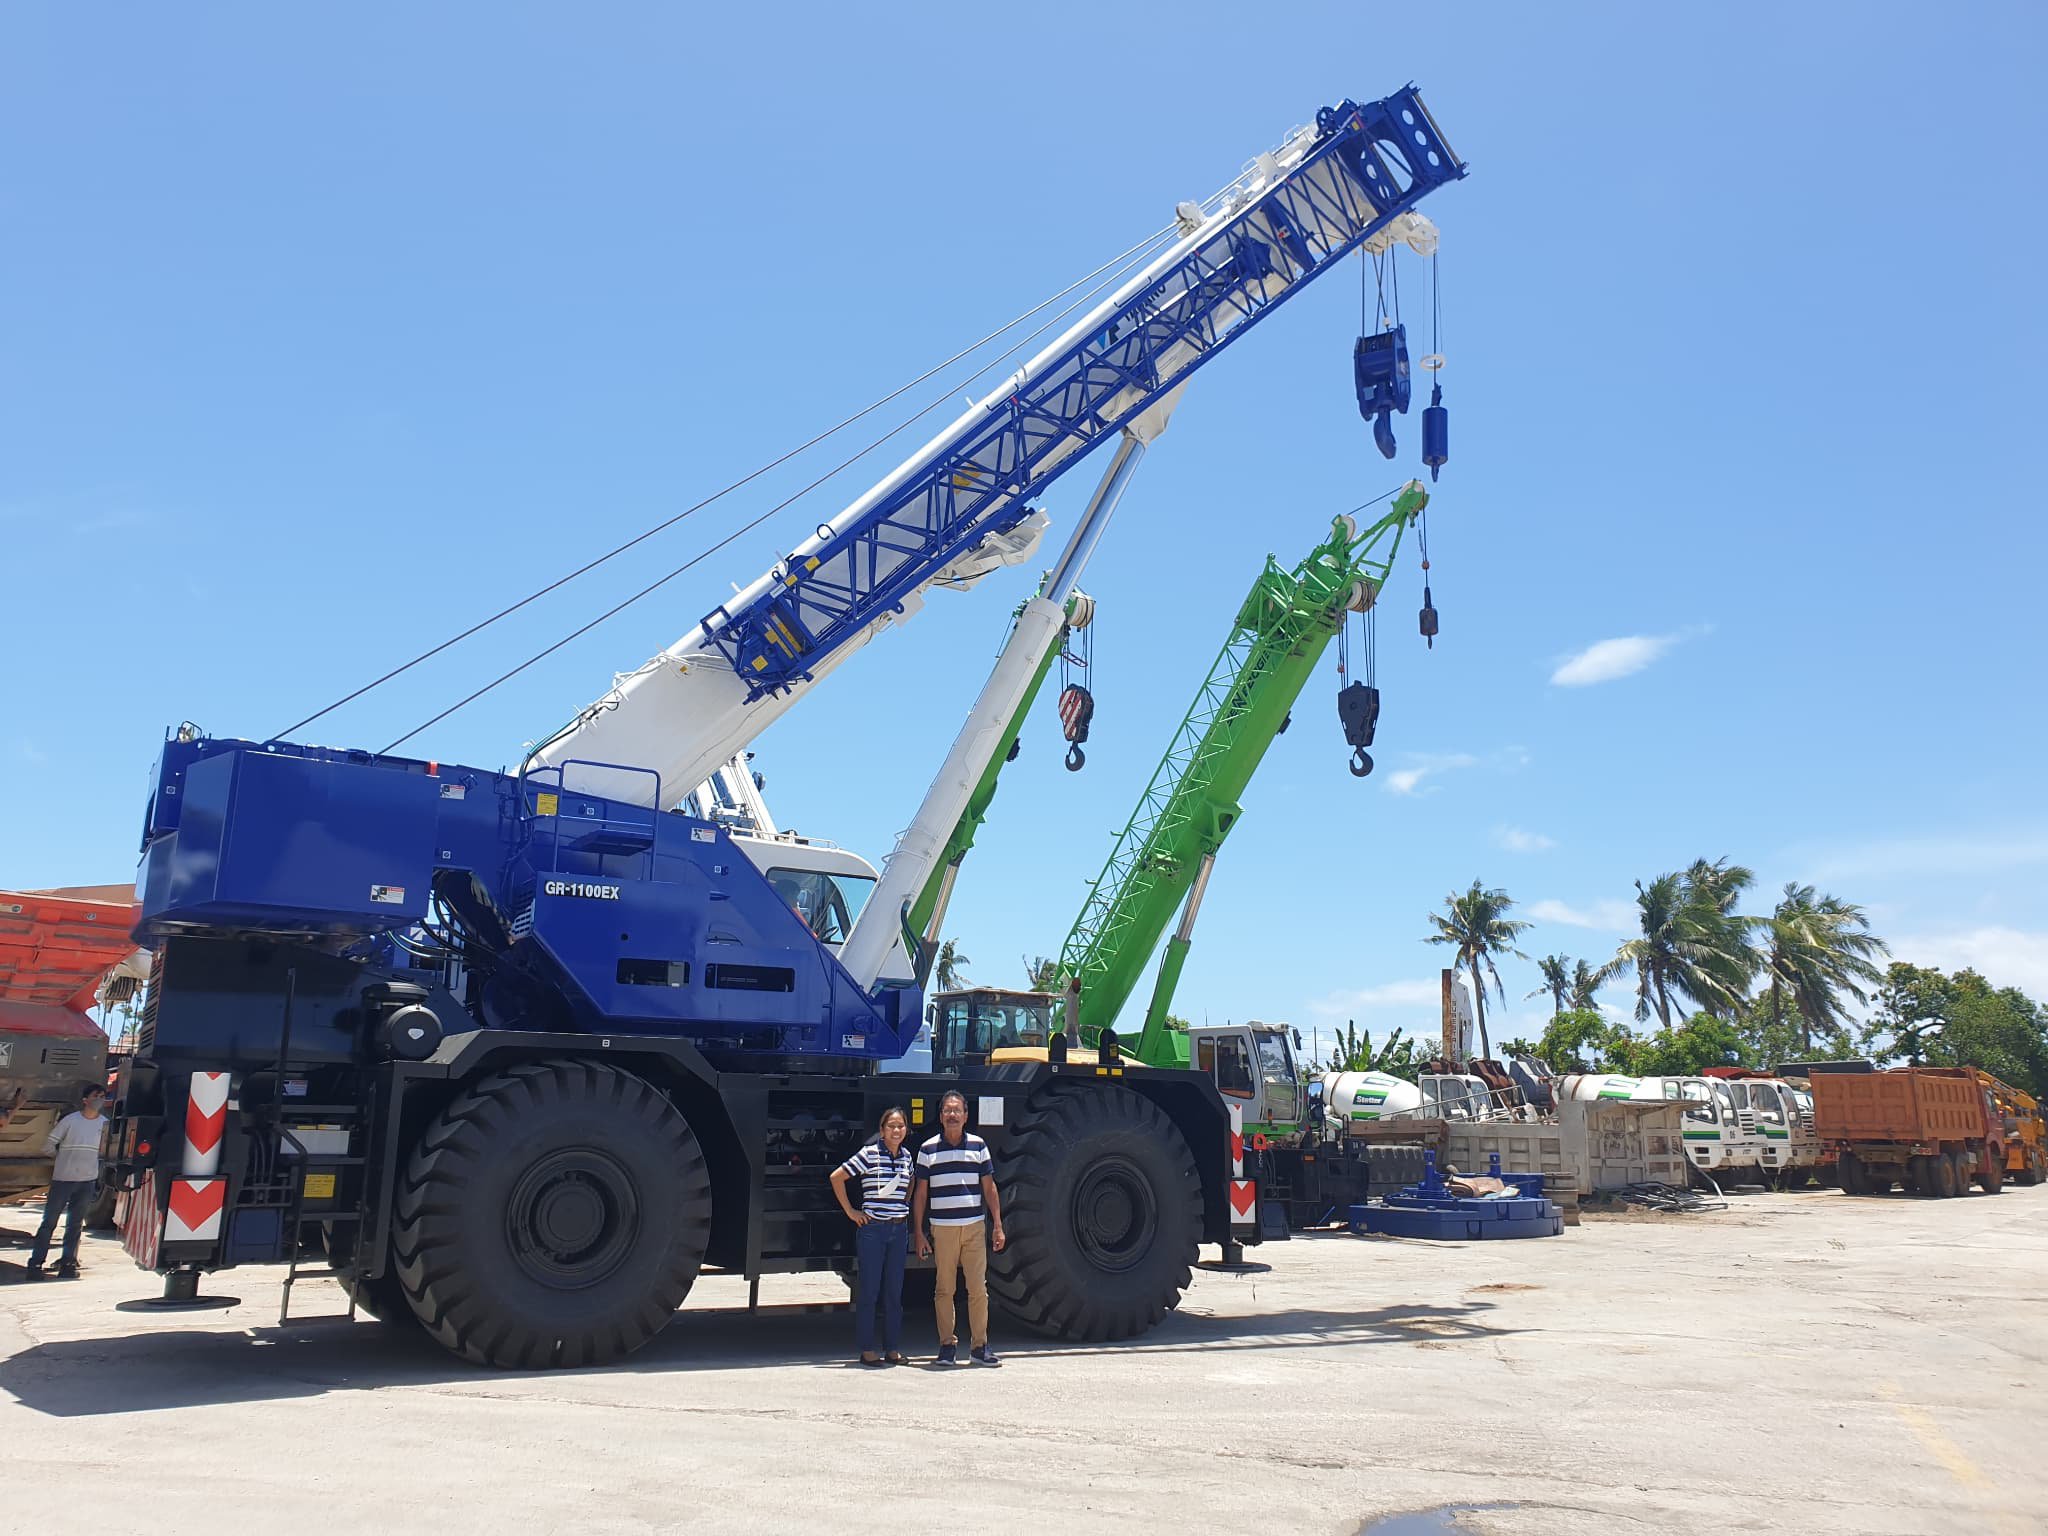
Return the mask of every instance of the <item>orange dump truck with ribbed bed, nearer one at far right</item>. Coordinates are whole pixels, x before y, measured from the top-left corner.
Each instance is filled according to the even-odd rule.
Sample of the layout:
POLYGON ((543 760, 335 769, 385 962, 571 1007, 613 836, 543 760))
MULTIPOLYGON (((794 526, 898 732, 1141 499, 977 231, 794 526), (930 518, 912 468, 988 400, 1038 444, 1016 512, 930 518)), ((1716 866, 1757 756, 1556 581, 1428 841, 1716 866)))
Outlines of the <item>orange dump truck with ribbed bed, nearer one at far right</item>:
POLYGON ((2005 1184, 2005 1116, 1968 1067, 1819 1071, 1812 1126, 1847 1194, 1987 1194, 2005 1184))

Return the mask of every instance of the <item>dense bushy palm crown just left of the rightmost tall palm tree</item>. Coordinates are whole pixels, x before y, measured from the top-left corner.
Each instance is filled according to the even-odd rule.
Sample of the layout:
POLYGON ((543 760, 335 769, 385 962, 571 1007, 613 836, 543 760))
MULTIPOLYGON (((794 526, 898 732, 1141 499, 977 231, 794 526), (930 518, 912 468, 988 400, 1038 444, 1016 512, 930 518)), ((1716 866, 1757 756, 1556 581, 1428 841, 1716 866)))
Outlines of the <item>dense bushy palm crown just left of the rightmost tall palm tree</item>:
POLYGON ((1749 942, 1753 920, 1735 911, 1735 901, 1753 883, 1755 874, 1724 858, 1694 860, 1686 872, 1659 874, 1649 885, 1636 881, 1642 934, 1624 942, 1595 981, 1634 969, 1636 1018, 1647 1020, 1655 1006, 1667 1030, 1673 995, 1708 1014, 1733 1012, 1759 965, 1749 942))

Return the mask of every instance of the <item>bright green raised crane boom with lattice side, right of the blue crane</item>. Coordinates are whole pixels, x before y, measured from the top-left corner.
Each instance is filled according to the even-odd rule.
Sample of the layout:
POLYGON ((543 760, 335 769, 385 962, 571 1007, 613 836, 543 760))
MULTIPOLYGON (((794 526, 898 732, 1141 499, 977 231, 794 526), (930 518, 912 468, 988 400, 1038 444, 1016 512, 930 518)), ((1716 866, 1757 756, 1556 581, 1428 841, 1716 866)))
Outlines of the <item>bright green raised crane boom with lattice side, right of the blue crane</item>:
MULTIPOLYGON (((1174 907, 1186 903, 1159 961, 1135 1055, 1159 1067, 1188 1065, 1188 1040, 1167 1030, 1165 1014, 1217 850, 1237 825, 1239 797, 1346 612, 1364 612, 1378 600, 1403 532, 1427 504, 1421 481, 1409 481, 1372 526, 1360 530, 1352 518, 1337 518, 1329 539, 1292 571, 1266 559, 1061 946, 1069 1038, 1094 1047, 1114 1026, 1174 907)), ((1425 633, 1432 616, 1425 610, 1425 633)))

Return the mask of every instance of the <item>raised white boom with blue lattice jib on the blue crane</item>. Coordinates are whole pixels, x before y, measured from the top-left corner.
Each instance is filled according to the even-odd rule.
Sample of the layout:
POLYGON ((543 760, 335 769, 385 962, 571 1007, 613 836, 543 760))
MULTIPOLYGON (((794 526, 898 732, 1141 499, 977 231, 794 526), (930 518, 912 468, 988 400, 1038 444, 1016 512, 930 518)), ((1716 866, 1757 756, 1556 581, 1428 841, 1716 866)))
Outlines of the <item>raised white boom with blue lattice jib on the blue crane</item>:
MULTIPOLYGON (((700 784, 815 682, 938 586, 1030 557, 1061 473, 1124 434, 1305 283, 1368 242, 1411 238, 1413 207, 1464 176, 1413 86, 1325 106, 1059 340, 717 606, 535 754, 651 803, 700 784), (612 764, 633 764, 612 768, 612 764)), ((1053 604, 1063 592, 1049 594, 1053 604)))

